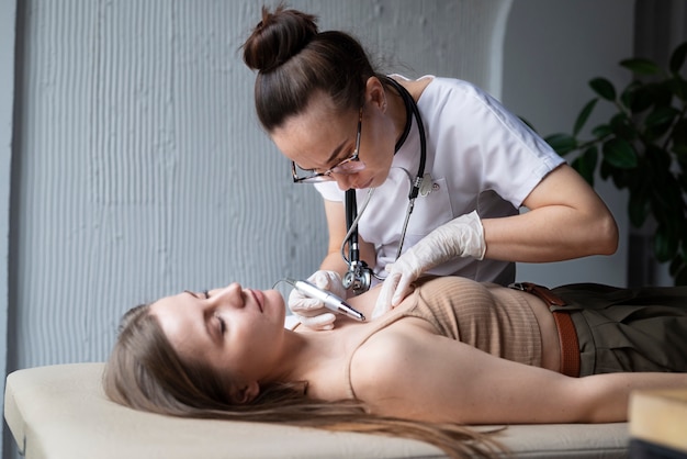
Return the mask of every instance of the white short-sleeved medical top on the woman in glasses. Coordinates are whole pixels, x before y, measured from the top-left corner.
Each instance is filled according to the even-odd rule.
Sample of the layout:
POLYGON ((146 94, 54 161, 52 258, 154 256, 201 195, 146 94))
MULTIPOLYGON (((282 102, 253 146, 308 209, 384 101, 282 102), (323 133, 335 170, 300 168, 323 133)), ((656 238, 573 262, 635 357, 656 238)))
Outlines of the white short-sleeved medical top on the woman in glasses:
MULTIPOLYGON (((394 76, 396 78, 403 78, 394 76)), ((403 251, 432 229, 476 210, 480 217, 514 215, 527 195, 564 159, 497 100, 472 83, 433 78, 417 102, 427 137, 425 173, 431 192, 419 195, 410 215, 403 251)), ((365 155, 374 152, 360 152, 365 155)), ((417 122, 394 156, 387 180, 374 190, 359 222, 360 236, 374 244, 373 267, 384 277, 393 262, 406 214, 410 180, 417 175, 420 142, 417 122)), ((324 199, 344 202, 336 182, 315 184, 324 199)), ((368 190, 358 190, 359 208, 368 190)), ((458 258, 429 273, 455 275, 507 284, 515 264, 458 258)))

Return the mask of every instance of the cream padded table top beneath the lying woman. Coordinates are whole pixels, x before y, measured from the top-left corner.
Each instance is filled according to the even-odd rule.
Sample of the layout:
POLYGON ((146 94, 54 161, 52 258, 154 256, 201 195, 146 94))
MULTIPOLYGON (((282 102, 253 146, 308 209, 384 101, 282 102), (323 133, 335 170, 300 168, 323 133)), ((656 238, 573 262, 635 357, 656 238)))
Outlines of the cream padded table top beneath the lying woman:
MULTIPOLYGON (((227 421, 182 419, 110 402, 103 363, 18 370, 4 417, 27 459, 439 458, 421 441, 227 421)), ((521 458, 623 458, 626 423, 509 426, 497 437, 521 458)))

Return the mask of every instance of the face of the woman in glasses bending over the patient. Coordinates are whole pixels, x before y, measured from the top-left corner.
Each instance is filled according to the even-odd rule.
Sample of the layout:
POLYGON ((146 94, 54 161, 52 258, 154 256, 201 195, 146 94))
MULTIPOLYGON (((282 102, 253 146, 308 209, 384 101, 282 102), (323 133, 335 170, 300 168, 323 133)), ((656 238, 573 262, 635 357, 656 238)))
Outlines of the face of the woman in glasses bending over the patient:
POLYGON ((320 178, 336 180, 341 190, 379 187, 394 156, 393 125, 384 123, 380 110, 367 105, 340 113, 327 96, 317 93, 304 113, 271 133, 272 141, 295 163, 299 176, 325 173, 320 178))

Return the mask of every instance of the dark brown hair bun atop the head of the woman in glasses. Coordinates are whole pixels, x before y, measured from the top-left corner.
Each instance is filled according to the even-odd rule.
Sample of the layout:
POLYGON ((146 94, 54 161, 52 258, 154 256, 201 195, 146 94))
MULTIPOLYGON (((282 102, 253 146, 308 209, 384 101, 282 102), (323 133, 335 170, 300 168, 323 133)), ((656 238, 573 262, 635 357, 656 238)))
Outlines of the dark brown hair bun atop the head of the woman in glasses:
POLYGON ((244 61, 269 71, 295 56, 317 35, 317 16, 279 5, 273 13, 262 7, 262 21, 244 43, 244 61))

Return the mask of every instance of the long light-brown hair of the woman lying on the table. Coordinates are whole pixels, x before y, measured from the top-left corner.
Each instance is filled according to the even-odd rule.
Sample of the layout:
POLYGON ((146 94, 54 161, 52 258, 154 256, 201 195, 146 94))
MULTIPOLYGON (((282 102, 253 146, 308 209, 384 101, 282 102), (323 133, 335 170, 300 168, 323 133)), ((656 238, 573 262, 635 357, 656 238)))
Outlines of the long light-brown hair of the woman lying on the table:
POLYGON ((122 318, 103 385, 116 403, 171 416, 402 436, 430 443, 453 458, 489 458, 503 450, 488 435, 464 426, 378 416, 357 400, 314 400, 306 395, 304 381, 262 385, 251 403, 232 403, 229 377, 181 359, 148 304, 132 309, 122 318))

